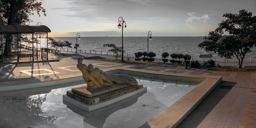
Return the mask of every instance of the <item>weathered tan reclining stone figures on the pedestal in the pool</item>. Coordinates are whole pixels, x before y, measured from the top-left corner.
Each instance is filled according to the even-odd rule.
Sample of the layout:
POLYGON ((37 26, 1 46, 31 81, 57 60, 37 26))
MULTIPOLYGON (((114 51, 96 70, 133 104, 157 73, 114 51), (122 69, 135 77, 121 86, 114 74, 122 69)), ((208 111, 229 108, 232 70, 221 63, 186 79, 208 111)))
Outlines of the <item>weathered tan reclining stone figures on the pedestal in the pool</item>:
POLYGON ((76 67, 82 72, 87 89, 109 87, 113 84, 138 85, 132 76, 126 74, 106 74, 98 67, 88 66, 82 63, 83 58, 78 58, 76 67))

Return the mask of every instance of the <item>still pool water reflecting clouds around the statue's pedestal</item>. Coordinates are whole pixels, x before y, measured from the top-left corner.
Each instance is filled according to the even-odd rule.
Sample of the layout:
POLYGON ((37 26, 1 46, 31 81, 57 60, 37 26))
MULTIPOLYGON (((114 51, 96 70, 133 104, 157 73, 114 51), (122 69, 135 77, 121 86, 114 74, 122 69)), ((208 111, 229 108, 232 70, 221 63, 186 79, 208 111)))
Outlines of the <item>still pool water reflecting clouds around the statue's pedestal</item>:
POLYGON ((137 81, 147 87, 146 93, 92 112, 63 103, 67 91, 85 84, 1 92, 0 128, 138 128, 195 88, 137 81))

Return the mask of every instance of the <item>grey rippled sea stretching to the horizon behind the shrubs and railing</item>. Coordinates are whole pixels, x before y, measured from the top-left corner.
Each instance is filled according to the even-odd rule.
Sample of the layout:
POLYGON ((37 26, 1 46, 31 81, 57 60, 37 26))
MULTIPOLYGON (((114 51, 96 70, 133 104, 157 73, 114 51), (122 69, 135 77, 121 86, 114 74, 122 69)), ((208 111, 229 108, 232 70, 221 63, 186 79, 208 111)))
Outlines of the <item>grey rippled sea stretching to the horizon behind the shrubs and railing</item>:
MULTIPOLYGON (((199 58, 200 54, 209 54, 205 52, 204 49, 200 49, 198 44, 203 41, 203 36, 155 36, 152 40, 147 40, 147 37, 124 37, 124 56, 134 57, 135 52, 154 52, 157 56, 155 58, 162 58, 162 53, 167 52, 169 54, 189 54, 193 57, 193 60, 202 60, 199 58)), ((104 44, 115 44, 117 47, 122 46, 122 37, 81 37, 80 40, 76 37, 54 37, 55 40, 69 41, 72 43, 72 49, 69 51, 75 51, 74 45, 79 44, 81 52, 94 54, 107 54, 107 51, 111 49, 110 47, 103 47, 104 44)), ((39 39, 38 39, 39 40, 39 39)), ((46 41, 42 39, 42 46, 46 47, 46 41)), ((50 45, 48 47, 51 47, 50 45)), ((67 50, 63 47, 61 49, 67 50)), ((225 58, 220 58, 218 54, 211 53, 213 55, 213 60, 224 61, 225 58)), ((169 56, 168 59, 171 59, 169 56)), ((207 60, 207 58, 206 58, 207 60)), ((256 61, 256 49, 252 49, 251 53, 246 54, 244 61, 256 61)), ((232 57, 228 61, 237 61, 236 57, 232 57)))

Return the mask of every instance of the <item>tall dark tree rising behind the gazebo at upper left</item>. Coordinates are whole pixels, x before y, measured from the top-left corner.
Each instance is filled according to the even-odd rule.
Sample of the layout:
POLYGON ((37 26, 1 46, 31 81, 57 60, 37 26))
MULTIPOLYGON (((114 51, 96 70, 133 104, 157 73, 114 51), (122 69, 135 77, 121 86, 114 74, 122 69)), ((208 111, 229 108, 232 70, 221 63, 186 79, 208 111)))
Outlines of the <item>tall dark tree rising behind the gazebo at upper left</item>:
MULTIPOLYGON (((25 25, 30 15, 34 12, 40 16, 40 12, 45 14, 45 9, 41 7, 43 0, 0 0, 0 24, 1 25, 25 25)), ((7 44, 4 54, 11 51, 12 34, 7 34, 7 44)))

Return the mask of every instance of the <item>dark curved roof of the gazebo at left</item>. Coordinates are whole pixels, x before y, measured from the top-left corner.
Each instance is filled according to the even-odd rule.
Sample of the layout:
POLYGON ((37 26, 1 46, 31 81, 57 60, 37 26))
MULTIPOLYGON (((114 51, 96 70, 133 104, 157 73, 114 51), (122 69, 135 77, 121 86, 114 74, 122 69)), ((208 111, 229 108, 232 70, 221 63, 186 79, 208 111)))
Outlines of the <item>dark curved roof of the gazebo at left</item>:
POLYGON ((0 33, 48 33, 51 30, 45 25, 0 25, 0 33))

